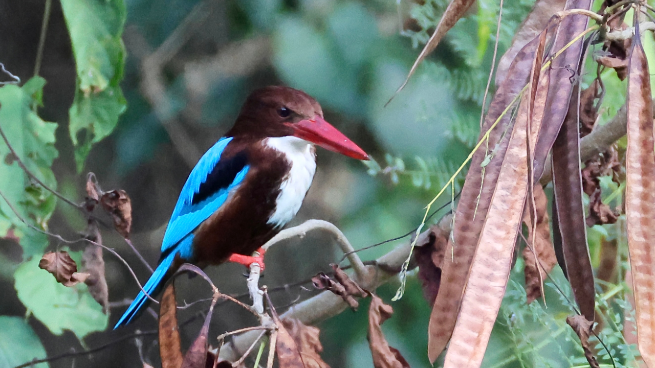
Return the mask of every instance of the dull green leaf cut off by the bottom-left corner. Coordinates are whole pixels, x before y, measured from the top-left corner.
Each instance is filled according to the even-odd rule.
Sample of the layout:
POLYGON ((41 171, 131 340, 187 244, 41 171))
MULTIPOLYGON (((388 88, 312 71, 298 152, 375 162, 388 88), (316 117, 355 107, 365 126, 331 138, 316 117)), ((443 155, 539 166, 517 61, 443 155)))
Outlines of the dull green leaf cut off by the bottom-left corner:
MULTIPOLYGON (((23 318, 0 316, 0 367, 15 367, 46 357, 41 340, 23 318)), ((47 368, 48 363, 32 365, 47 368)))

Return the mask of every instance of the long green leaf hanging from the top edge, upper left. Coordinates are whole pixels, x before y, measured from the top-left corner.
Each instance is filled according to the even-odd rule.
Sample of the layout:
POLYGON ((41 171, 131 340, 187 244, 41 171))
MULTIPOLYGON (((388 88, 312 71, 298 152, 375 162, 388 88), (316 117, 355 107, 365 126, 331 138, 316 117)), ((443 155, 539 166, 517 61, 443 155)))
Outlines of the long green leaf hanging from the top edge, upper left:
POLYGON ((125 111, 121 83, 125 47, 123 0, 62 0, 77 69, 69 133, 80 172, 94 143, 108 136, 125 111))

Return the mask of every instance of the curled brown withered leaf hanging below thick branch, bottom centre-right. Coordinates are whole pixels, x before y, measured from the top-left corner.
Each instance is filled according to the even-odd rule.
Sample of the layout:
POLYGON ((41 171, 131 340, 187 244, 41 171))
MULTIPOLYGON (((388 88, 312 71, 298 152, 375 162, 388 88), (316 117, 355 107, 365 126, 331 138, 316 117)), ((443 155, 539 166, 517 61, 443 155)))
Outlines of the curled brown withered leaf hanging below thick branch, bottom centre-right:
POLYGON ((398 350, 389 346, 382 332, 382 323, 388 320, 394 313, 389 304, 375 294, 372 294, 371 306, 369 307, 369 329, 367 339, 373 356, 373 367, 375 368, 409 368, 409 363, 403 358, 398 350))

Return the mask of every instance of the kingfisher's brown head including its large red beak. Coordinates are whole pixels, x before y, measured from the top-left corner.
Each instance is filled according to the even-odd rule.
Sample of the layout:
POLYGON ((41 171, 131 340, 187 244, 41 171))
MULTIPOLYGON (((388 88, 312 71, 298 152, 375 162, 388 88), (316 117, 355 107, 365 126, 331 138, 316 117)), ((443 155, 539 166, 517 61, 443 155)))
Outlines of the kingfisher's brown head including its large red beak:
POLYGON ((358 160, 369 159, 360 147, 323 119, 323 109, 314 98, 285 86, 252 92, 226 136, 251 139, 294 136, 358 160))

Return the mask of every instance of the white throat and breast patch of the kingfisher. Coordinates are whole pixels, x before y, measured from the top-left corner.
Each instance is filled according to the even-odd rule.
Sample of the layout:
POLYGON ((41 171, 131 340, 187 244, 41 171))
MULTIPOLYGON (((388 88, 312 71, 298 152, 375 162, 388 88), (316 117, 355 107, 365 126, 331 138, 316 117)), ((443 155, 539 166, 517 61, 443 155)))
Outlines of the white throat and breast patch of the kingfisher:
POLYGON ((270 225, 276 228, 286 225, 303 204, 305 194, 312 185, 316 172, 316 158, 311 143, 297 137, 276 137, 264 139, 263 144, 284 153, 291 164, 291 170, 286 175, 280 194, 275 200, 275 210, 269 218, 270 225))

